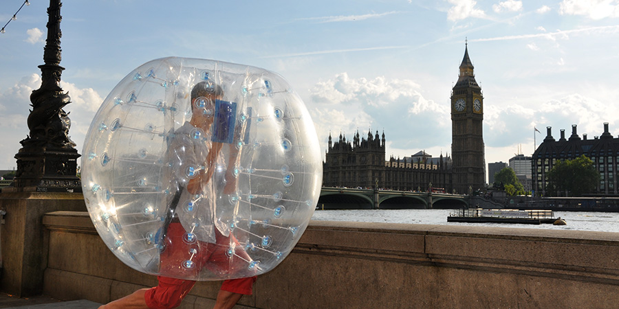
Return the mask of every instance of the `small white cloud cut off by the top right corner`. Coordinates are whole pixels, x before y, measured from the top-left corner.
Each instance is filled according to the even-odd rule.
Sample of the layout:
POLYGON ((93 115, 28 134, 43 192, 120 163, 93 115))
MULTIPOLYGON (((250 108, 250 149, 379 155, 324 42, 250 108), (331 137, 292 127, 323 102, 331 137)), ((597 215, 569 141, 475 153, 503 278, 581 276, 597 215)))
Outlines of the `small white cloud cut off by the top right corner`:
POLYGON ((619 17, 617 0, 563 0, 559 13, 562 15, 584 15, 590 19, 619 17))

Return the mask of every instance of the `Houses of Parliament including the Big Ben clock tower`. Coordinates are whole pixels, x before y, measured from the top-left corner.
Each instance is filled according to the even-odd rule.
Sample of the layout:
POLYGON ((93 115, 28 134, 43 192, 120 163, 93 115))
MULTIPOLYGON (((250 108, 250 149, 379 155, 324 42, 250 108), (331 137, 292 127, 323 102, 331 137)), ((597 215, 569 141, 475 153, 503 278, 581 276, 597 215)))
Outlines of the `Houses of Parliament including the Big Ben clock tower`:
POLYGON ((340 133, 329 146, 323 162, 323 186, 362 187, 402 191, 428 191, 470 194, 483 190, 485 181, 484 97, 475 81, 473 62, 465 45, 458 81, 451 91, 451 157, 432 157, 424 151, 411 157, 385 159, 385 135, 360 136, 352 140, 340 133))

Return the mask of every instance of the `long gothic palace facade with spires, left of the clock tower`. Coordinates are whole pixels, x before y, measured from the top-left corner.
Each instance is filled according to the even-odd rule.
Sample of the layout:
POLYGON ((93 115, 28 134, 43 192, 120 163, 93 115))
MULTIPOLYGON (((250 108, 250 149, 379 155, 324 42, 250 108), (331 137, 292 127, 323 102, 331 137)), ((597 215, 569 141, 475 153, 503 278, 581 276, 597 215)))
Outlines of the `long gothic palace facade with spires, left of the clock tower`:
POLYGON ((352 141, 345 136, 333 141, 323 162, 324 187, 361 187, 386 190, 427 191, 430 187, 452 192, 451 159, 433 158, 425 152, 411 157, 385 160, 385 139, 367 133, 367 139, 357 132, 352 141))

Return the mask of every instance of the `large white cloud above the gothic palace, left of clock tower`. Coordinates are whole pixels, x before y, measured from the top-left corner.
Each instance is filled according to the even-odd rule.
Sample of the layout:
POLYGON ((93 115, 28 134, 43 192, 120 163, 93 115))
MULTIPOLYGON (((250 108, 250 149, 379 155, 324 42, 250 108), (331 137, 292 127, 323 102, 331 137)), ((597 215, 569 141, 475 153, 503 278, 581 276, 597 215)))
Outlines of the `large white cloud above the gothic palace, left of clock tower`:
POLYGON ((382 135, 384 130, 391 152, 447 148, 451 141, 448 105, 426 100, 420 88, 412 80, 351 78, 347 73, 317 82, 310 89, 310 111, 321 147, 326 146, 329 132, 351 137, 358 129, 367 137, 371 128, 373 134, 379 130, 382 135))

